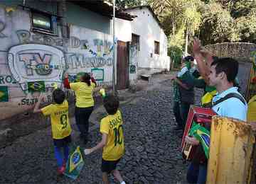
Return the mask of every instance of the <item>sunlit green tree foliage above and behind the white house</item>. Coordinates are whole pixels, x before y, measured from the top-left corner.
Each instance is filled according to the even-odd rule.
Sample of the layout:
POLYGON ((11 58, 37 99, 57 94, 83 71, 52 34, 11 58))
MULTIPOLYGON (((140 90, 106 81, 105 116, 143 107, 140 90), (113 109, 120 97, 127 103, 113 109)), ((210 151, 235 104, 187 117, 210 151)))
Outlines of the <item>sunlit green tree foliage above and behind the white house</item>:
POLYGON ((169 38, 169 52, 198 36, 203 45, 256 42, 256 0, 116 0, 121 8, 149 5, 169 38), (190 39, 189 39, 190 38, 190 39))

